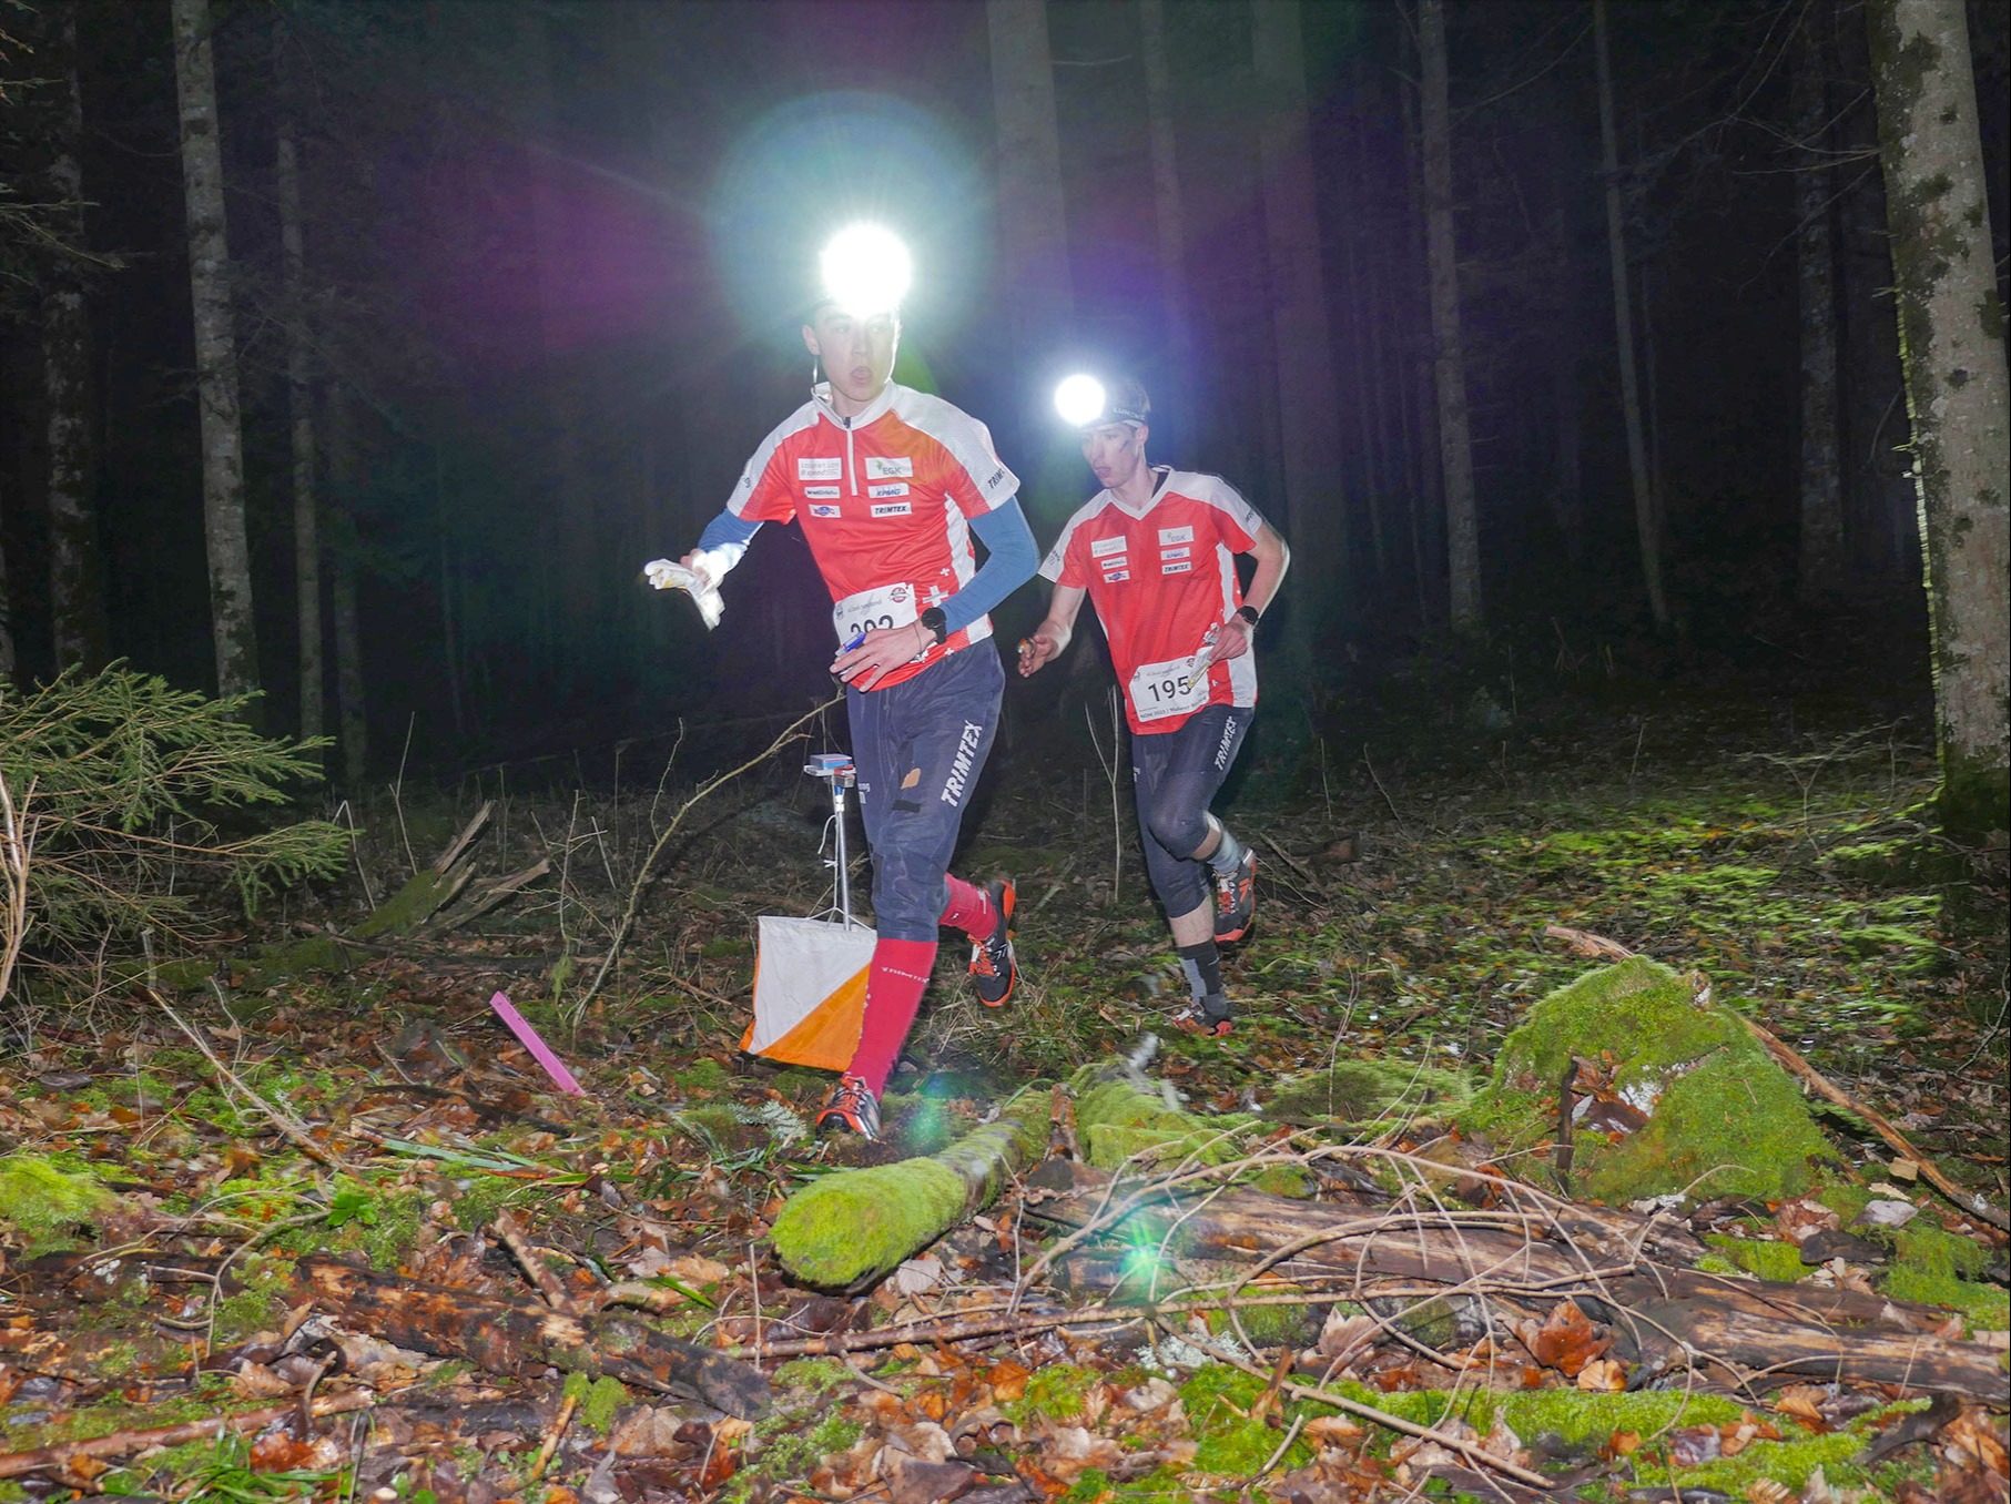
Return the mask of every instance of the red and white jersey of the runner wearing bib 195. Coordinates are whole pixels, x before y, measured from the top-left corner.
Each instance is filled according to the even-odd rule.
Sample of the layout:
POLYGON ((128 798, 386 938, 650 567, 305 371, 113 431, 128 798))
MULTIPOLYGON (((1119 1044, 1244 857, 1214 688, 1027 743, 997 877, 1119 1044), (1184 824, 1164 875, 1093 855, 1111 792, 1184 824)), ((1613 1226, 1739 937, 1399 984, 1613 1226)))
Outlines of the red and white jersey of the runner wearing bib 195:
POLYGON ((1193 670, 1243 605, 1237 555, 1257 547, 1261 527, 1235 487, 1193 471, 1160 471, 1142 511, 1098 491, 1068 519, 1040 573, 1090 593, 1132 732, 1178 730, 1207 706, 1257 704, 1255 653, 1193 670))

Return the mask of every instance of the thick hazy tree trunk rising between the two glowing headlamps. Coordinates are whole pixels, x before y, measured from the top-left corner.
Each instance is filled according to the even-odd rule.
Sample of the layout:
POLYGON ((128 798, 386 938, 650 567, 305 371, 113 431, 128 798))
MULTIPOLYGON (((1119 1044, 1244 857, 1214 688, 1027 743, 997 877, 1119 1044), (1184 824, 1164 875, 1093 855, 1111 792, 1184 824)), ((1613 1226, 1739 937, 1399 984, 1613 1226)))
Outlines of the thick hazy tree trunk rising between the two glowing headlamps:
MULTIPOLYGON (((1076 308, 1062 205, 1048 0, 985 0, 999 141, 999 249, 1016 348, 1058 338, 1076 308)), ((1160 229, 1164 233, 1164 229, 1160 229)))

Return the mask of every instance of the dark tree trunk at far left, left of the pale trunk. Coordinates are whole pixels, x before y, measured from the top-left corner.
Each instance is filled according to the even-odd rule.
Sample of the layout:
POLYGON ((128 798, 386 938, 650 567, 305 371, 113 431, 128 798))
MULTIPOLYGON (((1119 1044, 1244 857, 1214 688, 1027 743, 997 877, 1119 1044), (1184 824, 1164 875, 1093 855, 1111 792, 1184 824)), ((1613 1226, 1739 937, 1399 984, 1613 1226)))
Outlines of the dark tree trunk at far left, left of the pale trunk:
MULTIPOLYGON (((56 233, 84 245, 82 90, 76 86, 76 6, 54 6, 46 64, 56 74, 48 189, 56 233)), ((56 251, 42 294, 42 386, 48 404, 48 615, 56 668, 105 662, 105 591, 90 432, 90 314, 72 255, 56 251)))

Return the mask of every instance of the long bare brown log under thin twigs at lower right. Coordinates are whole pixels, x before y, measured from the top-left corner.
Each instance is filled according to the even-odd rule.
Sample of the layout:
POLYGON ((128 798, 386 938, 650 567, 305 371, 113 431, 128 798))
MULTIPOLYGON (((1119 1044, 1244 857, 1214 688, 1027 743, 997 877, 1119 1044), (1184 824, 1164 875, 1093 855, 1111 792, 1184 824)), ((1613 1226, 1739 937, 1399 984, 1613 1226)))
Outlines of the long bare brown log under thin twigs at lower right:
MULTIPOLYGON (((1834 1287, 1699 1273, 1687 1265, 1703 1247, 1679 1223, 1605 1206, 1400 1210, 1363 1192, 1303 1202, 1213 1186, 1122 1210, 1126 1198, 1110 1196, 1108 1178, 1096 1170, 1078 1166, 1074 1182, 1070 1196, 1030 1200, 1028 1216, 1070 1229, 1102 1216, 1106 1243, 1160 1249, 1174 1263, 1261 1259, 1287 1281, 1339 1281, 1335 1299, 1376 1299, 1378 1285, 1468 1285, 1456 1299, 1480 1321, 1577 1301, 1613 1327, 1617 1355, 1639 1369, 1639 1379, 1683 1367, 1721 1379, 1733 1367, 1754 1383, 1768 1373, 1814 1375, 2003 1401, 1993 1349, 1931 1335, 1945 1311, 1834 1287), (1295 1251, 1269 1263, 1287 1245, 1295 1251), (1470 1285, 1486 1289, 1488 1305, 1470 1303, 1470 1285)), ((1168 1293, 1162 1275, 1158 1297, 1168 1293)), ((1500 1335, 1512 1331, 1506 1325, 1500 1335)), ((1462 1333, 1462 1341, 1478 1335, 1462 1333)))

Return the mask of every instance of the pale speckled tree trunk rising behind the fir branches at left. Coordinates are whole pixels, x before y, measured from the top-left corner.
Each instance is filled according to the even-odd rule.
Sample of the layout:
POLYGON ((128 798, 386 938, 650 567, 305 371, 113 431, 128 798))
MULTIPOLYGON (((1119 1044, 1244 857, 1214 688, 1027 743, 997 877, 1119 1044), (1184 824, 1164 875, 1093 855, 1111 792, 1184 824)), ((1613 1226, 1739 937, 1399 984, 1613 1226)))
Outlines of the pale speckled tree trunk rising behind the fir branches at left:
MULTIPOLYGON (((209 625, 217 694, 259 688, 245 543, 243 432, 237 418, 237 328, 223 229, 223 143, 209 50, 209 0, 173 0, 175 97, 181 105, 181 185, 195 302, 195 394, 203 420, 203 535, 209 545, 209 625)), ((255 706, 255 702, 253 702, 255 706)), ((253 710, 255 716, 255 710, 253 710)))

